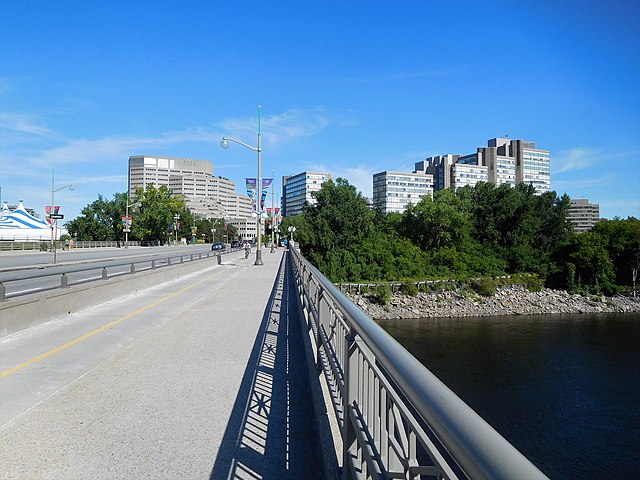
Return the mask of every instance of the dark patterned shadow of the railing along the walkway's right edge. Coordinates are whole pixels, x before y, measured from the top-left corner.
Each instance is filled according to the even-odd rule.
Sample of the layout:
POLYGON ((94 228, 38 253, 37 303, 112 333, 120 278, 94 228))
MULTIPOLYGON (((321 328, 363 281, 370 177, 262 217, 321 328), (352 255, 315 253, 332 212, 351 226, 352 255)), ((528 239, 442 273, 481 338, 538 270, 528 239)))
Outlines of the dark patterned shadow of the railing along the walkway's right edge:
POLYGON ((300 313, 286 262, 285 256, 211 480, 323 478, 300 313))

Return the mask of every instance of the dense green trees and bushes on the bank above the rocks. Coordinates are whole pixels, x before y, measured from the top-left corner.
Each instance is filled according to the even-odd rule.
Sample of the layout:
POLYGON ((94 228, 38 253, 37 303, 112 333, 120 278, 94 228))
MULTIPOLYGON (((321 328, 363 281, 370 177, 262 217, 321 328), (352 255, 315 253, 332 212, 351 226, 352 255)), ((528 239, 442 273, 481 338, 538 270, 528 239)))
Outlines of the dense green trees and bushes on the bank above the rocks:
POLYGON ((302 253, 335 283, 528 273, 572 293, 635 287, 640 221, 602 220, 577 234, 566 195, 479 183, 436 192, 402 214, 371 210, 340 178, 314 196, 316 204, 285 218, 281 231, 295 225, 302 253))

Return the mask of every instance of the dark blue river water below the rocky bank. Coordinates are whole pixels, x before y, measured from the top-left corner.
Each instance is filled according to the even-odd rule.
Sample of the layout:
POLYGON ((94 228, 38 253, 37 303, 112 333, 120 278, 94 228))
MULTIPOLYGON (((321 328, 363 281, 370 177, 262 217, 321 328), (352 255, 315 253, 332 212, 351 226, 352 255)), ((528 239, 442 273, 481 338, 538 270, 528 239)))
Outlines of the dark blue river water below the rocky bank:
POLYGON ((640 479, 640 314, 379 324, 552 479, 640 479))

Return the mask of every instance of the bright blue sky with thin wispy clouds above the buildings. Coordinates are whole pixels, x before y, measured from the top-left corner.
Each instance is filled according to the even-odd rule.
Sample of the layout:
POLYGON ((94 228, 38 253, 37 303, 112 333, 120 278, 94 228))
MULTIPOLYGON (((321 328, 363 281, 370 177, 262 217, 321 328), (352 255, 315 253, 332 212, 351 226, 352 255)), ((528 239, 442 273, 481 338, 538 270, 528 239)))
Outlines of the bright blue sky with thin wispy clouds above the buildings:
POLYGON ((65 219, 126 192, 131 155, 255 177, 372 175, 508 134, 552 154, 551 188, 640 217, 640 4, 2 2, 0 185, 65 219))

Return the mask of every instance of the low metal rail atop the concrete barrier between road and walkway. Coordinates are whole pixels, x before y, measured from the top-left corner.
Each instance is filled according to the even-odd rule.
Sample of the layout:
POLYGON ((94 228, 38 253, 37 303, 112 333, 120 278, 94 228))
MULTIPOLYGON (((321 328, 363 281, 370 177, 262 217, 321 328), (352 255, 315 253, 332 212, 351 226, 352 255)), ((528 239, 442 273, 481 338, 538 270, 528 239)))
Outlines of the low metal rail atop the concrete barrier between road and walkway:
POLYGON ((93 262, 83 262, 79 264, 67 264, 50 266, 47 268, 27 267, 12 269, 0 272, 0 302, 7 300, 8 298, 21 296, 25 294, 38 293, 45 290, 52 290, 56 288, 68 288, 71 285, 86 283, 95 280, 107 280, 116 276, 134 274, 138 272, 144 272, 147 270, 153 270, 156 268, 181 264, 185 262, 193 262, 210 257, 217 257, 218 264, 221 263, 220 255, 231 253, 236 250, 225 250, 224 252, 201 252, 194 254, 182 254, 182 255, 169 255, 167 253, 153 255, 151 257, 139 258, 136 260, 98 260, 93 262), (122 267, 128 267, 126 271, 122 271, 122 267), (116 273, 109 273, 109 269, 113 270, 120 268, 116 273), (96 275, 84 278, 80 281, 72 283, 69 279, 70 274, 79 274, 87 272, 96 272, 96 275), (21 282, 24 280, 41 279, 46 277, 60 277, 60 282, 55 286, 44 286, 38 289, 30 289, 26 293, 20 294, 7 294, 7 284, 11 282, 21 282))

